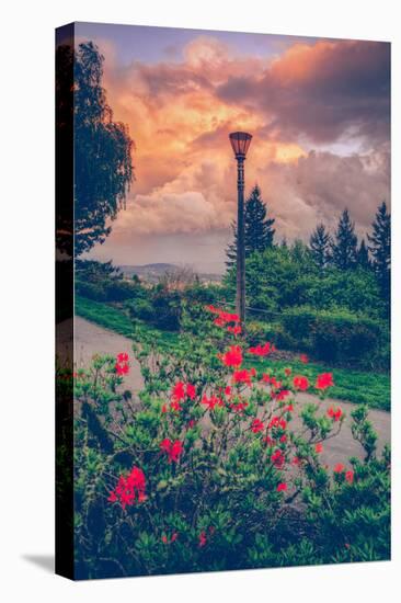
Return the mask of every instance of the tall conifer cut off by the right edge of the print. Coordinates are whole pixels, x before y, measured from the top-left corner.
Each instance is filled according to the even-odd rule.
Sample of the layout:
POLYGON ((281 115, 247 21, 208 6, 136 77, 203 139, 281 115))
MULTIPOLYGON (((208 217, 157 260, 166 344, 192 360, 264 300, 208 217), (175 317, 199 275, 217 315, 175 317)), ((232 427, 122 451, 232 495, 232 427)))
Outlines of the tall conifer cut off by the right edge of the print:
POLYGON ((368 235, 368 247, 381 294, 387 302, 390 297, 391 282, 391 215, 387 212, 386 202, 378 207, 371 226, 373 234, 368 235))

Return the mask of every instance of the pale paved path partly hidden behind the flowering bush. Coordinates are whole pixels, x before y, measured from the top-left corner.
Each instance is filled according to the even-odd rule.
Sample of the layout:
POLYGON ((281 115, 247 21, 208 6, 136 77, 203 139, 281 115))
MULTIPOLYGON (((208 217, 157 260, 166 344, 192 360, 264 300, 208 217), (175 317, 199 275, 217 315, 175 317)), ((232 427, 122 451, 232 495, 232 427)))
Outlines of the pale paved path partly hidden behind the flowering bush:
MULTIPOLYGON (((103 329, 102 327, 99 327, 93 322, 89 322, 80 317, 76 317, 75 319, 75 330, 77 366, 88 365, 94 354, 116 355, 118 352, 127 352, 131 357, 131 369, 125 379, 125 385, 127 389, 131 389, 133 391, 138 391, 141 389, 142 378, 138 363, 133 360, 131 342, 129 339, 113 331, 108 331, 107 329, 103 329)), ((300 405, 319 401, 324 410, 326 410, 332 403, 340 405, 347 416, 341 433, 324 444, 324 452, 322 454, 322 460, 324 463, 332 466, 335 463, 345 462, 350 456, 363 456, 362 447, 354 441, 350 430, 350 414, 353 408, 355 408, 355 405, 333 399, 320 401, 319 398, 309 394, 299 394, 297 396, 297 401, 299 401, 300 405)), ((378 446, 379 448, 382 448, 386 442, 390 442, 391 416, 389 412, 381 410, 371 410, 369 412, 369 418, 378 433, 378 446)), ((300 420, 296 416, 291 425, 296 428, 300 420)))

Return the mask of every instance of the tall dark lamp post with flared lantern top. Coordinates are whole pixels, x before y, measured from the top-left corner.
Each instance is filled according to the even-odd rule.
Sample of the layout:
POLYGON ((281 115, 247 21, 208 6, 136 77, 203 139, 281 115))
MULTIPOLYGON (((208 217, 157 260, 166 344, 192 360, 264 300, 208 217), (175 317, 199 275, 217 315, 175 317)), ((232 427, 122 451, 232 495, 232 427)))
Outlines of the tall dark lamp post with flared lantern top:
POLYGON ((237 159, 238 216, 237 216, 237 314, 240 322, 245 320, 245 237, 244 237, 244 166, 252 135, 247 132, 230 134, 230 143, 237 159))

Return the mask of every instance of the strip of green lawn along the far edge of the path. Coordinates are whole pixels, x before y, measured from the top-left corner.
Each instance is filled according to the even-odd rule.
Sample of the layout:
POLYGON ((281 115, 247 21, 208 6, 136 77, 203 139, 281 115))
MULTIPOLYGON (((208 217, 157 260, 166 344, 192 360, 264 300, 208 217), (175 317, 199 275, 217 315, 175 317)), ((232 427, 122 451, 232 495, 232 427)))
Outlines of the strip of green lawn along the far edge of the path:
MULTIPOLYGON (((76 314, 88 320, 111 329, 125 337, 140 339, 151 331, 158 338, 161 346, 171 348, 179 343, 179 334, 150 329, 146 323, 136 323, 123 310, 108 306, 107 304, 93 302, 84 297, 76 297, 76 314)), ((335 386, 330 390, 330 397, 354 403, 367 403, 370 408, 390 410, 390 377, 381 373, 364 373, 347 368, 331 369, 326 365, 309 362, 303 364, 300 361, 291 360, 263 360, 260 361, 261 368, 267 371, 280 369, 285 366, 293 368, 293 374, 306 375, 314 382, 319 373, 332 372, 335 386)), ((250 364, 250 361, 249 363, 250 364)))

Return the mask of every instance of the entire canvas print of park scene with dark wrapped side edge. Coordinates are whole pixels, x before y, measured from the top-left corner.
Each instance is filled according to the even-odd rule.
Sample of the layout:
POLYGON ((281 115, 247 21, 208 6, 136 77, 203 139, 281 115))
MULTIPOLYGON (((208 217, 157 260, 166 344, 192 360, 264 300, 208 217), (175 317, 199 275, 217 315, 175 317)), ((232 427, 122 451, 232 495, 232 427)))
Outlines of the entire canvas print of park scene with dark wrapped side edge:
POLYGON ((390 559, 390 44, 56 37, 57 572, 390 559))

